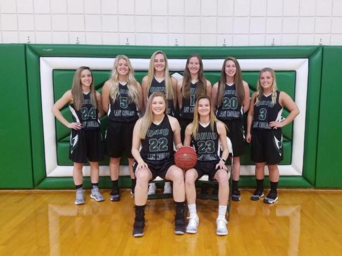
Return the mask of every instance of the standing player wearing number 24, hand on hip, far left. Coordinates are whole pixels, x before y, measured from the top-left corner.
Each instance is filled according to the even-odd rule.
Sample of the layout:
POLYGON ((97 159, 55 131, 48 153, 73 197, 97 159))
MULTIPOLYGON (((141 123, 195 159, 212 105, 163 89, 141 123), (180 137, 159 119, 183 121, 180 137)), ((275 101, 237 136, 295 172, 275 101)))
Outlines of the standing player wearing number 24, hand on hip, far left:
POLYGON ((84 204, 83 165, 89 160, 92 184, 90 197, 104 201, 98 191, 98 161, 103 160, 102 135, 99 118, 103 114, 101 96, 94 88, 93 75, 88 67, 79 67, 72 88, 52 107, 54 116, 71 129, 69 159, 74 162, 72 177, 76 187, 75 204, 84 204), (69 103, 73 122, 69 123, 61 109, 69 103))

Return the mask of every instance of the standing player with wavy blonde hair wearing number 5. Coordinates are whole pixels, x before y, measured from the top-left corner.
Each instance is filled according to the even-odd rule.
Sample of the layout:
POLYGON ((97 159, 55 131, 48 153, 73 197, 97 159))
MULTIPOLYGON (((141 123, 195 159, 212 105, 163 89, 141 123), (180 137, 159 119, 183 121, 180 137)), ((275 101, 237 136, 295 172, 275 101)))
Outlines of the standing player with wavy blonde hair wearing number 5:
POLYGON ((125 152, 131 176, 131 194, 134 194, 135 178, 133 174, 134 158, 131 153, 132 135, 138 111, 143 106, 142 88, 134 78, 129 58, 117 55, 111 78, 105 82, 102 90, 104 110, 107 112, 106 154, 110 157, 109 173, 112 180, 111 201, 120 200, 118 187, 120 159, 125 152))

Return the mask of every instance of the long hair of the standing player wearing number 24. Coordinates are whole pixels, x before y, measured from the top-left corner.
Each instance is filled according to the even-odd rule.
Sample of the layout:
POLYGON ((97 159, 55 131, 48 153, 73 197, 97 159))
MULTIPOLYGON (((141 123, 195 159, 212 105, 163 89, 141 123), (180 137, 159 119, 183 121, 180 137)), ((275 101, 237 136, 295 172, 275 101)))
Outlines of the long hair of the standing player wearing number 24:
POLYGON ((95 107, 95 109, 97 108, 97 100, 96 100, 96 91, 95 91, 95 87, 94 87, 94 77, 93 77, 93 73, 91 73, 91 70, 89 67, 79 67, 78 69, 76 69, 76 72, 74 74, 74 78, 72 81, 72 87, 71 87, 71 94, 72 94, 72 98, 74 101, 74 106, 76 110, 81 110, 82 109, 82 105, 83 105, 83 90, 82 90, 82 84, 81 84, 81 75, 82 72, 84 70, 89 70, 90 74, 91 74, 91 83, 90 83, 90 99, 91 99, 91 103, 93 104, 93 106, 95 107))

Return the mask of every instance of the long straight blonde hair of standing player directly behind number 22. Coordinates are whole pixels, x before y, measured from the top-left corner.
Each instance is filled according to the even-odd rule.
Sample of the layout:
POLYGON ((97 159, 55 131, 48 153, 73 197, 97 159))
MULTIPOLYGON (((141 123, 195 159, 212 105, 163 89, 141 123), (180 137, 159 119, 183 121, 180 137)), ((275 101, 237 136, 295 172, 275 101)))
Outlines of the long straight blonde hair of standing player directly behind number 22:
POLYGON ((149 71, 147 74, 147 92, 150 91, 151 83, 154 78, 154 59, 157 54, 162 54, 165 59, 165 69, 164 69, 164 81, 165 81, 165 91, 166 91, 166 98, 173 99, 173 90, 172 90, 172 83, 171 83, 171 76, 169 74, 169 65, 168 59, 164 52, 156 51, 152 54, 150 59, 150 66, 149 71))

